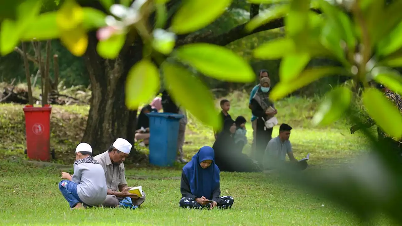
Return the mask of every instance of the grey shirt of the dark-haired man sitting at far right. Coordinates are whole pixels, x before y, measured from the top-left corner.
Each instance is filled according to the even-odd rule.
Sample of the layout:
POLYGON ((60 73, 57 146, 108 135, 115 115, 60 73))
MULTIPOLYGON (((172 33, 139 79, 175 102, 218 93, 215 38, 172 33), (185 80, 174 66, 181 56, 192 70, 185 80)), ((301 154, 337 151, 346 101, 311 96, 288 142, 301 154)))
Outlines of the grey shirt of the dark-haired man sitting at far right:
POLYGON ((284 162, 286 154, 292 152, 292 145, 289 140, 281 141, 279 136, 271 139, 265 148, 264 166, 267 168, 272 167, 274 164, 284 162))

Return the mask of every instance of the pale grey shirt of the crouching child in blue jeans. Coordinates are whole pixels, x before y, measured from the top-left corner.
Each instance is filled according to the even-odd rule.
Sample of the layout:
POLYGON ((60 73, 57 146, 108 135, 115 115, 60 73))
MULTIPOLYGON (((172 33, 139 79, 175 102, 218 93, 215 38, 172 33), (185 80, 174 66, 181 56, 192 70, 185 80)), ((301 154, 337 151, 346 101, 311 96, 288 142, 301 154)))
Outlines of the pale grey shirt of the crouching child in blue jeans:
POLYGON ((98 206, 107 195, 105 172, 100 164, 74 164, 74 175, 71 181, 77 183, 77 193, 81 201, 87 205, 98 206))

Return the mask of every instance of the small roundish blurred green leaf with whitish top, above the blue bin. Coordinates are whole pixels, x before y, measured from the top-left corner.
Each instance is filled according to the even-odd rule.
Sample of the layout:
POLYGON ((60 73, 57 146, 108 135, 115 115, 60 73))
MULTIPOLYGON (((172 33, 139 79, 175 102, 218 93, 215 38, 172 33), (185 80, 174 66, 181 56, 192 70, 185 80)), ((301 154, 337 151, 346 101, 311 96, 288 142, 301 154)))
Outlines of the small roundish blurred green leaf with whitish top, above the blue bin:
POLYGON ((163 29, 155 29, 153 35, 154 39, 152 40, 152 47, 154 49, 165 55, 172 52, 176 43, 176 35, 174 33, 163 29))

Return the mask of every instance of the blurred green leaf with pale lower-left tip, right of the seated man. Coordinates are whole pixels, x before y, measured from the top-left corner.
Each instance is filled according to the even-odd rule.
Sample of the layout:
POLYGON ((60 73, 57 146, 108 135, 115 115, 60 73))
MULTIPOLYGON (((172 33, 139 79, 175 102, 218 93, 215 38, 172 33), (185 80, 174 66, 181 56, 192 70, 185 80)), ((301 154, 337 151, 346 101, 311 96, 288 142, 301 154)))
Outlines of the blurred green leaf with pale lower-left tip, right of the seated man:
POLYGON ((320 108, 313 117, 315 125, 329 125, 339 119, 349 108, 352 92, 345 86, 334 88, 326 94, 320 108))

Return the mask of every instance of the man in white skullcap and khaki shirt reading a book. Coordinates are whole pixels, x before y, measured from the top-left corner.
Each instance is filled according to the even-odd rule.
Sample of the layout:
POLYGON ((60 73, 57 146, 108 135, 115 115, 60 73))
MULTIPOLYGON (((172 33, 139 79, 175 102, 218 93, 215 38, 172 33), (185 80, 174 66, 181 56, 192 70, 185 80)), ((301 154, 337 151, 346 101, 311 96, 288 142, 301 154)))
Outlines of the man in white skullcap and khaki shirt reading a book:
POLYGON ((98 154, 94 159, 100 162, 106 175, 107 197, 103 202, 104 207, 127 207, 130 203, 130 208, 135 209, 145 201, 145 193, 142 192, 142 197, 129 193, 127 181, 124 174, 124 160, 130 154, 132 145, 123 138, 117 138, 110 146, 109 150, 98 154))

